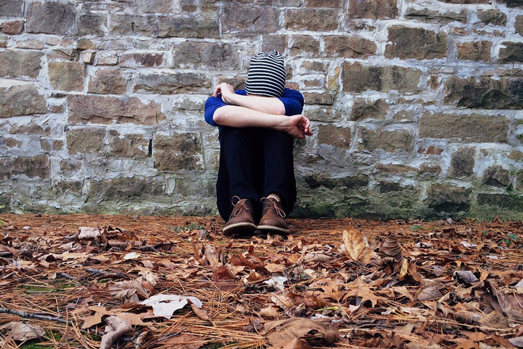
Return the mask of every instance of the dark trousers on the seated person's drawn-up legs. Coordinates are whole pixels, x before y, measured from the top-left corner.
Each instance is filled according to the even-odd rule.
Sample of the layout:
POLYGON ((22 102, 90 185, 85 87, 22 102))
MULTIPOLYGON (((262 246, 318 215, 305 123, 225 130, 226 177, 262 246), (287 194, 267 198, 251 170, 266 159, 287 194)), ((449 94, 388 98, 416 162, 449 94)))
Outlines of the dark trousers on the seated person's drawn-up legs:
POLYGON ((229 220, 231 200, 236 195, 252 201, 255 220, 259 220, 259 199, 270 193, 280 195, 283 209, 289 214, 296 202, 294 139, 288 133, 268 128, 220 126, 219 140, 216 196, 220 216, 229 220))

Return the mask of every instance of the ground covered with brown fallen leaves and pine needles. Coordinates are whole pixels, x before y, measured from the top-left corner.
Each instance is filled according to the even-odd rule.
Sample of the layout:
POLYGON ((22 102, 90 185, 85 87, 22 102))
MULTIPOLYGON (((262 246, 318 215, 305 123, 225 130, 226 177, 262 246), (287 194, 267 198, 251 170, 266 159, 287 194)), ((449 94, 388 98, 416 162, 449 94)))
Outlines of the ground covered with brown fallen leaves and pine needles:
POLYGON ((523 347, 523 222, 0 215, 2 348, 523 347))

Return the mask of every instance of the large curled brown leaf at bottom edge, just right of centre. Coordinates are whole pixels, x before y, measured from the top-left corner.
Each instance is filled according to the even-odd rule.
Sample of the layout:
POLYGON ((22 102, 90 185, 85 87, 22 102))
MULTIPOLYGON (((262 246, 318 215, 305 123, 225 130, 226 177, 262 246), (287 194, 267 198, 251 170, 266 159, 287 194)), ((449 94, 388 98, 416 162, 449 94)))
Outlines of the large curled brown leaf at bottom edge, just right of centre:
POLYGON ((290 318, 287 320, 268 321, 261 334, 267 336, 272 346, 285 346, 293 339, 301 339, 309 332, 317 332, 326 343, 332 344, 340 339, 338 325, 329 320, 310 320, 306 318, 290 318))

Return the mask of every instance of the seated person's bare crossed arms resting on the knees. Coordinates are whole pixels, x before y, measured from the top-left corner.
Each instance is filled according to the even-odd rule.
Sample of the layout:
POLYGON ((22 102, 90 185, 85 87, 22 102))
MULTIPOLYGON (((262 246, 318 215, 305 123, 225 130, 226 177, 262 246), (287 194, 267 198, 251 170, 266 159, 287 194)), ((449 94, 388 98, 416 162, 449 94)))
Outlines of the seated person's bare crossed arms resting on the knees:
POLYGON ((213 110, 214 124, 230 127, 273 128, 287 132, 293 138, 305 138, 305 135, 312 135, 309 119, 302 114, 285 116, 285 105, 279 98, 235 94, 233 87, 225 82, 215 88, 213 97, 218 98, 219 94, 226 105, 213 110))

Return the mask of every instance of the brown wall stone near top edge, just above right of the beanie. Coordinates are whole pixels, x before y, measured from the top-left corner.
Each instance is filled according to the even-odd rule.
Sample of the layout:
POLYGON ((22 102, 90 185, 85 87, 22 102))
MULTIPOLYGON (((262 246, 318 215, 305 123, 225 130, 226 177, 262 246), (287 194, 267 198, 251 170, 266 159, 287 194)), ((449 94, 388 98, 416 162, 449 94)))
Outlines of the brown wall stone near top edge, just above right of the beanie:
POLYGON ((290 30, 330 31, 338 28, 338 10, 298 8, 285 11, 290 30))

